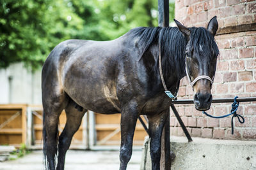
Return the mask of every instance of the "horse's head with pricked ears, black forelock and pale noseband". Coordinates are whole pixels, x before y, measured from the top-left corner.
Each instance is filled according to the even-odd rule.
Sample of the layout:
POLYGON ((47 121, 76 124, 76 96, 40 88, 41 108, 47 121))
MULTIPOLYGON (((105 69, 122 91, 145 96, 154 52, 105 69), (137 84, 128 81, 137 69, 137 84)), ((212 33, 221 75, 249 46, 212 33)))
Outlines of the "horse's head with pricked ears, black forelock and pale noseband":
POLYGON ((207 29, 203 27, 186 28, 175 20, 179 30, 184 34, 186 45, 186 73, 195 92, 196 110, 209 110, 212 103, 211 87, 216 71, 219 54, 214 36, 218 29, 216 17, 213 17, 207 29))

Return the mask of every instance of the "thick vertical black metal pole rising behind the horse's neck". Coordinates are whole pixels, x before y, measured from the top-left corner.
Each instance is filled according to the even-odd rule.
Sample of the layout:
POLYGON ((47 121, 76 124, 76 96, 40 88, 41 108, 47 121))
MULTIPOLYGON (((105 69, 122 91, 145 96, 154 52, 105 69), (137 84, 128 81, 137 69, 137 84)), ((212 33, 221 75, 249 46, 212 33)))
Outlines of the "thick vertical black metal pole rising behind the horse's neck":
MULTIPOLYGON (((159 27, 169 26, 169 0, 158 0, 158 25, 159 27)), ((170 109, 166 111, 168 117, 164 122, 164 129, 161 138, 161 162, 160 169, 170 170, 170 109)))

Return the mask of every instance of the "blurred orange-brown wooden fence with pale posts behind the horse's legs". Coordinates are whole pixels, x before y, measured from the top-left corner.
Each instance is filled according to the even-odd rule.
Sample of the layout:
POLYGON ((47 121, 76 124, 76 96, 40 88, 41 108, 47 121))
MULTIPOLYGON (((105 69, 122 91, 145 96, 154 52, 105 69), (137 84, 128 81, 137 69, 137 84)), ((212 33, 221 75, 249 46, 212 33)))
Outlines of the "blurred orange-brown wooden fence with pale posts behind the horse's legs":
MULTIPOLYGON (((0 104, 0 145, 42 148, 42 106, 28 104, 0 104)), ((59 131, 65 127, 65 111, 60 115, 59 131)), ((134 145, 143 145, 147 133, 137 122, 134 145)), ((102 115, 88 111, 70 148, 86 149, 95 145, 120 145, 120 114, 102 115)))

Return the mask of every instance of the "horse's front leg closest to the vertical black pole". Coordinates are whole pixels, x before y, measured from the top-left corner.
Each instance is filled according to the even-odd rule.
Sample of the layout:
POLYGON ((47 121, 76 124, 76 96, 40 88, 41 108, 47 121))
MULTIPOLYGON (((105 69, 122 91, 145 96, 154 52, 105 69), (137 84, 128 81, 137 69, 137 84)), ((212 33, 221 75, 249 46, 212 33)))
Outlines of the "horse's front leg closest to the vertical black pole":
POLYGON ((163 111, 161 114, 147 116, 152 170, 160 169, 161 136, 163 132, 164 122, 167 116, 167 111, 163 111))

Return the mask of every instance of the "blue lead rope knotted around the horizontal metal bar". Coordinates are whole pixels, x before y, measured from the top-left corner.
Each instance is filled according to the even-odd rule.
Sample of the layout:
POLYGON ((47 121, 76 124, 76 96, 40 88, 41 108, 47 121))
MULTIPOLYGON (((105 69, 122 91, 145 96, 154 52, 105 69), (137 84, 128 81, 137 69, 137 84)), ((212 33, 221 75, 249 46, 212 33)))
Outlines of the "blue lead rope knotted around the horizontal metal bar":
POLYGON ((232 128, 231 134, 234 134, 234 123, 233 123, 234 117, 237 117, 238 121, 239 121, 241 124, 244 123, 244 117, 241 116, 241 115, 238 115, 238 114, 236 113, 236 111, 237 111, 237 109, 238 109, 238 106, 239 106, 239 102, 236 101, 237 98, 238 98, 238 96, 236 96, 236 97, 234 98, 234 103, 232 104, 232 109, 231 109, 231 111, 230 111, 231 113, 228 113, 227 115, 223 115, 223 116, 220 116, 220 117, 214 117, 214 116, 212 116, 212 115, 209 115, 209 114, 206 113, 205 111, 203 111, 203 113, 204 113, 205 115, 207 115, 207 117, 211 117, 211 118, 225 118, 225 117, 228 117, 228 116, 230 116, 230 115, 233 115, 233 117, 231 118, 231 128, 232 128), (241 119, 240 119, 240 118, 241 118, 241 119))

